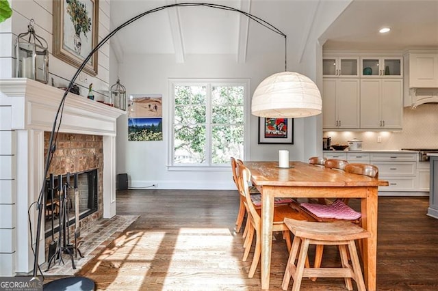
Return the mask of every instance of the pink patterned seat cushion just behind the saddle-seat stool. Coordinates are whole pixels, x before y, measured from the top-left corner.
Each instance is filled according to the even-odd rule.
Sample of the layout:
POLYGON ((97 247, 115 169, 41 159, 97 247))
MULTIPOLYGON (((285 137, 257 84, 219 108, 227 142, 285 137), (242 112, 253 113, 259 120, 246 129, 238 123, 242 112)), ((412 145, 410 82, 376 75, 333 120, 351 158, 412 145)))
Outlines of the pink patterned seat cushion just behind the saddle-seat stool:
POLYGON ((315 204, 315 203, 302 203, 303 208, 306 208, 317 217, 326 219, 345 219, 356 220, 360 219, 362 214, 353 210, 350 206, 346 205, 341 200, 336 200, 333 204, 315 204))

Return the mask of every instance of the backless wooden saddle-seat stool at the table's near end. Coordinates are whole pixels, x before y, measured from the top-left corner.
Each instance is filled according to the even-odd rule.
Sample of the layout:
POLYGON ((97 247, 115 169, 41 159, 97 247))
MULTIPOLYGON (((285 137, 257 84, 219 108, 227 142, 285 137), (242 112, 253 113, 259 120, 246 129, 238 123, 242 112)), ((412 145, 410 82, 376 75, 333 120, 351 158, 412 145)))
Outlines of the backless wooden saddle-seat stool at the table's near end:
POLYGON ((300 290, 303 277, 342 277, 348 290, 353 290, 351 279, 354 279, 357 283, 357 290, 366 290, 355 240, 370 237, 369 232, 349 221, 311 222, 286 218, 285 225, 294 234, 294 243, 292 243, 281 284, 283 290, 287 290, 291 277, 294 279, 292 291, 300 290), (306 266, 309 245, 337 245, 341 253, 342 267, 310 268, 306 266), (347 247, 351 266, 348 262, 347 247), (298 259, 297 263, 296 259, 298 259))

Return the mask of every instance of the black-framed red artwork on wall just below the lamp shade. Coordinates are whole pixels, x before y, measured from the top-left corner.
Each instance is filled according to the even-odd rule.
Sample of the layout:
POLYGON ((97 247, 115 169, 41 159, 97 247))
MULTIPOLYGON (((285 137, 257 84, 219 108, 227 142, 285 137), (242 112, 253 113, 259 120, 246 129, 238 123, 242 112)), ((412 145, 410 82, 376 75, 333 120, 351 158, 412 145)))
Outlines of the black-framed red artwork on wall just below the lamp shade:
POLYGON ((294 119, 259 117, 259 144, 294 144, 294 119))

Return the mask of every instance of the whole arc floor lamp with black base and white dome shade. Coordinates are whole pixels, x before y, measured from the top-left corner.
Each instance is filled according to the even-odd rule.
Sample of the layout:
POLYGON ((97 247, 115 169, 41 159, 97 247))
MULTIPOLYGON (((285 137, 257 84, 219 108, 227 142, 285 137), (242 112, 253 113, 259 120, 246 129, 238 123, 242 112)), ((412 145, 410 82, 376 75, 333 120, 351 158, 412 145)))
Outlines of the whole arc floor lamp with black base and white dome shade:
MULTIPOLYGON (((34 251, 34 273, 33 279, 38 279, 38 251, 41 233, 41 222, 42 222, 42 208, 44 207, 44 182, 49 171, 49 166, 51 163, 51 157, 55 152, 54 138, 55 134, 58 133, 61 122, 62 122, 62 110, 64 109, 64 102, 68 92, 75 84, 77 77, 80 72, 86 66, 87 62, 90 60, 92 55, 99 51, 99 48, 107 42, 114 34, 116 34, 120 29, 127 27, 134 21, 152 14, 154 12, 159 12, 167 8, 179 8, 179 7, 195 7, 204 6, 209 8, 216 8, 220 10, 229 10, 234 12, 239 12, 244 14, 248 18, 259 23, 263 27, 270 29, 274 33, 285 38, 285 72, 279 72, 273 74, 270 77, 264 79, 255 89, 253 94, 253 100, 251 105, 251 113, 260 117, 275 117, 275 118, 293 118, 293 117, 307 117, 312 115, 317 115, 321 113, 322 109, 322 99, 318 87, 309 79, 308 77, 299 74, 297 72, 287 72, 287 36, 285 33, 268 23, 267 21, 244 12, 242 10, 237 10, 235 8, 219 5, 213 3, 175 3, 170 5, 164 5, 152 10, 138 14, 125 23, 111 31, 99 44, 97 44, 88 56, 83 60, 81 66, 75 72, 73 78, 68 84, 68 88, 65 90, 64 95, 60 105, 58 106, 57 113, 55 115, 55 120, 53 121, 53 127, 51 130, 51 135, 49 138, 49 146, 47 149, 47 158, 44 164, 44 180, 42 182, 40 194, 38 196, 37 208, 38 208, 38 220, 37 220, 37 230, 36 230, 36 247, 34 251)), ((75 290, 94 290, 94 282, 86 277, 67 277, 63 279, 57 279, 51 281, 44 285, 44 290, 66 290, 65 288, 72 288, 75 286, 75 290)))

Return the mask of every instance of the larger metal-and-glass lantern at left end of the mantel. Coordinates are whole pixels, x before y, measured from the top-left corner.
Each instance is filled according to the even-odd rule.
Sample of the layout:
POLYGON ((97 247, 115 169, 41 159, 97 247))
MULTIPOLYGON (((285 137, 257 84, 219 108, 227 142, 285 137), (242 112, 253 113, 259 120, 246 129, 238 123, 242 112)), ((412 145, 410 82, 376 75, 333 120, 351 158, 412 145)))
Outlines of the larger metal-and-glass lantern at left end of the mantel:
POLYGON ((49 50, 47 41, 35 33, 34 19, 27 25, 27 32, 18 34, 15 41, 18 78, 29 78, 47 84, 49 81, 49 50), (28 38, 26 39, 26 37, 28 38))

